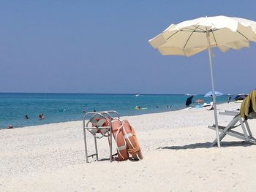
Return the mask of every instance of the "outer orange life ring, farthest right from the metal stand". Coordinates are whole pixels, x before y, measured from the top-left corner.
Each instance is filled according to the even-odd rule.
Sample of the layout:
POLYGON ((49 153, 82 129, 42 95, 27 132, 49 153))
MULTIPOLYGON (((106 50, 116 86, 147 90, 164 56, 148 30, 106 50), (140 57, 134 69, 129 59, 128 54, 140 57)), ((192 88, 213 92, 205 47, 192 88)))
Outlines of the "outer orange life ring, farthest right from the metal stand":
POLYGON ((132 128, 128 120, 123 121, 123 126, 122 133, 125 141, 127 142, 128 153, 131 154, 132 158, 135 160, 143 159, 134 128, 132 128))

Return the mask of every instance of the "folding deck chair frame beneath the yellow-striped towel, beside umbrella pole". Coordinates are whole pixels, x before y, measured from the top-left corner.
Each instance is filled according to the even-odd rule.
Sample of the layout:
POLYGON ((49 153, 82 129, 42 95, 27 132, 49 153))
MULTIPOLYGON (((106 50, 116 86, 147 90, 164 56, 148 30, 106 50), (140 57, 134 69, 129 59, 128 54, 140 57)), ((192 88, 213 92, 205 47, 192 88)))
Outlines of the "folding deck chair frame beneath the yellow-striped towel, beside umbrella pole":
MULTIPOLYGON (((242 119, 239 111, 225 111, 219 112, 219 115, 231 115, 234 118, 227 124, 227 126, 218 126, 219 128, 219 141, 221 141, 226 135, 230 135, 236 137, 238 139, 242 139, 245 142, 250 142, 252 144, 256 144, 256 139, 252 137, 252 131, 249 128, 249 124, 246 119, 242 119), (237 124, 238 123, 238 124, 237 124), (237 127, 242 128, 242 132, 235 131, 234 129, 237 127)), ((216 126, 208 126, 208 128, 216 130, 216 126)), ((211 147, 217 144, 217 139, 211 143, 211 147)))

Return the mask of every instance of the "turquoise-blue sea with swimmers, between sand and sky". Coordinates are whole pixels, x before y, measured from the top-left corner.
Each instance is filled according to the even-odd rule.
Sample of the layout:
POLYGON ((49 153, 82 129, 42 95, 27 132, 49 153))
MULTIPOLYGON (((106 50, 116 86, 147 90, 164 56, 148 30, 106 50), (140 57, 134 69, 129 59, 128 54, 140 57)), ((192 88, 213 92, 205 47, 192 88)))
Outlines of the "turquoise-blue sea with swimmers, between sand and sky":
MULTIPOLYGON (((82 120, 83 112, 116 110, 120 116, 181 110, 186 107, 186 94, 94 94, 94 93, 0 93, 0 128, 36 126, 82 120), (143 110, 135 110, 135 107, 143 110), (39 120, 39 114, 44 115, 39 120), (26 119, 25 116, 29 118, 26 119)), ((217 103, 227 102, 227 95, 218 96, 217 103)), ((195 95, 192 107, 202 107, 195 95)))

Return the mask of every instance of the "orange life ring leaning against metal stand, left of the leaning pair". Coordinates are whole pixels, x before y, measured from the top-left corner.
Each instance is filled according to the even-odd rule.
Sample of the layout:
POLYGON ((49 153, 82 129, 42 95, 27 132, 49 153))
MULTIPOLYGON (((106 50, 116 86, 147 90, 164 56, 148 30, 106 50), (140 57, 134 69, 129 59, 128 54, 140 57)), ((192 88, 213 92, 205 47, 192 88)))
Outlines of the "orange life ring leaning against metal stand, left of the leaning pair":
POLYGON ((126 161, 129 158, 129 154, 127 151, 127 145, 124 140, 124 136, 122 134, 122 123, 120 120, 112 120, 112 133, 113 137, 116 140, 116 150, 117 150, 117 155, 118 161, 126 161))

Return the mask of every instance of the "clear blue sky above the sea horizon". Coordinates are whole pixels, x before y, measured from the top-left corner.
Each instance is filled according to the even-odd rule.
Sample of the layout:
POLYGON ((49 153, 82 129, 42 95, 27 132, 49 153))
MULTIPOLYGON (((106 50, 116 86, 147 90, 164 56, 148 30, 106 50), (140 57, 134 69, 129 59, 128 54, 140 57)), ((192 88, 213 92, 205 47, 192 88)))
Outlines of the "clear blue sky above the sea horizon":
MULTIPOLYGON (((0 92, 206 93, 206 51, 163 56, 148 39, 171 23, 256 20, 256 1, 1 1, 0 92)), ((256 44, 214 50, 217 91, 256 88, 256 44)))

